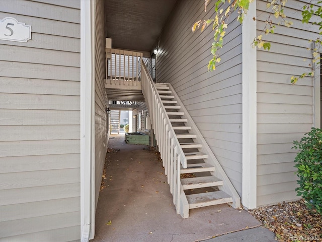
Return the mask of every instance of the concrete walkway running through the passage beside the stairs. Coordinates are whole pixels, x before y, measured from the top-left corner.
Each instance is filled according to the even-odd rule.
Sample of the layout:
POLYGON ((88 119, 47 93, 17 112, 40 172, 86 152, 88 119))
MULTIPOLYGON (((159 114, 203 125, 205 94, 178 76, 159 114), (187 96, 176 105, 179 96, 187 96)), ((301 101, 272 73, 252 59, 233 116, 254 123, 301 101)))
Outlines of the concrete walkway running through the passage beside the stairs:
POLYGON ((247 211, 228 205, 193 209, 182 219, 155 151, 126 144, 124 134, 112 135, 108 147, 119 151, 107 154, 93 242, 194 242, 261 225, 247 211))

